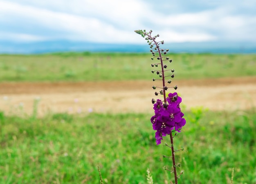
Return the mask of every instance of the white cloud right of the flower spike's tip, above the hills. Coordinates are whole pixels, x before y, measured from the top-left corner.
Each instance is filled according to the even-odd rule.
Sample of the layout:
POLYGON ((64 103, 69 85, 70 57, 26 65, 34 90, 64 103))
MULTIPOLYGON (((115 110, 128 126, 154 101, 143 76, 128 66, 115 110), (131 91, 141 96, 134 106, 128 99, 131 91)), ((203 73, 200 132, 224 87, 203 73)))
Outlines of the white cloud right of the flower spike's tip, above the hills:
POLYGON ((155 17, 155 22, 160 20, 157 21, 159 27, 173 32, 173 36, 177 37, 175 42, 256 41, 253 34, 256 31, 256 16, 234 14, 233 11, 232 7, 218 7, 195 13, 165 16, 165 19, 155 17), (179 36, 181 37, 178 38, 179 36))

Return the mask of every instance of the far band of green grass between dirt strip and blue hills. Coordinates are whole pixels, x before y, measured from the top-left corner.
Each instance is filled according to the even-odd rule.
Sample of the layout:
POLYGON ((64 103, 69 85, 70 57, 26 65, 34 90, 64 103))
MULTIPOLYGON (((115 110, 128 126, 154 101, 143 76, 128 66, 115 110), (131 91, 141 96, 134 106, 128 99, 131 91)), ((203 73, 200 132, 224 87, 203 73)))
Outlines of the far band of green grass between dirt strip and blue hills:
MULTIPOLYGON (((255 54, 168 54, 176 79, 255 76, 255 54)), ((150 80, 150 54, 56 53, 0 55, 3 81, 150 80)), ((167 72, 168 73, 168 72, 167 72)))

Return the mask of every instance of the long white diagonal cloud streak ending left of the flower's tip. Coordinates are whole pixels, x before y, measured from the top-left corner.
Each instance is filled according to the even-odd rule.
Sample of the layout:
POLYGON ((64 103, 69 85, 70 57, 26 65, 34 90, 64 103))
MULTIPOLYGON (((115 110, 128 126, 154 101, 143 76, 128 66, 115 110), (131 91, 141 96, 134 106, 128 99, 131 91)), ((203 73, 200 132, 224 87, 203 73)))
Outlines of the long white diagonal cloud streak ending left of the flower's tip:
MULTIPOLYGON (((113 25, 105 23, 96 18, 88 18, 83 16, 72 15, 69 13, 60 13, 49 11, 47 9, 39 9, 31 6, 24 6, 16 3, 0 2, 0 11, 5 14, 14 13, 13 24, 17 23, 20 26, 26 26, 27 22, 30 26, 35 27, 40 25, 47 31, 59 31, 65 33, 65 37, 55 36, 55 39, 72 39, 72 40, 87 40, 108 43, 121 43, 136 41, 133 38, 133 31, 126 29, 117 29, 113 25), (20 21, 17 21, 20 20, 20 21), (129 37, 133 39, 129 39, 129 37)), ((0 18, 4 21, 5 17, 0 18)), ((16 25, 16 26, 18 26, 16 25)), ((18 30, 10 30, 18 31, 18 30)), ((40 31, 41 32, 41 31, 40 31)), ((10 34, 11 35, 11 34, 10 34)), ((42 35, 41 35, 42 36, 42 35)), ((51 35, 43 35, 45 38, 54 39, 51 35)), ((61 34, 63 36, 63 34, 61 34)), ((16 37, 13 37, 16 39, 16 37)))

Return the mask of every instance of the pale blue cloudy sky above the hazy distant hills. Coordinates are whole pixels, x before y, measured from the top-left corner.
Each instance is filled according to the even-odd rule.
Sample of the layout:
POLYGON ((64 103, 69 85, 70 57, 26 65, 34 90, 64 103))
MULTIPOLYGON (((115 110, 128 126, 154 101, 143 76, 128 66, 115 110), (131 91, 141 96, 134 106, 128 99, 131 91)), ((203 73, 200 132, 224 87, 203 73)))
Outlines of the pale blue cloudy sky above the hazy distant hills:
POLYGON ((0 41, 256 42, 255 0, 0 0, 0 41))

